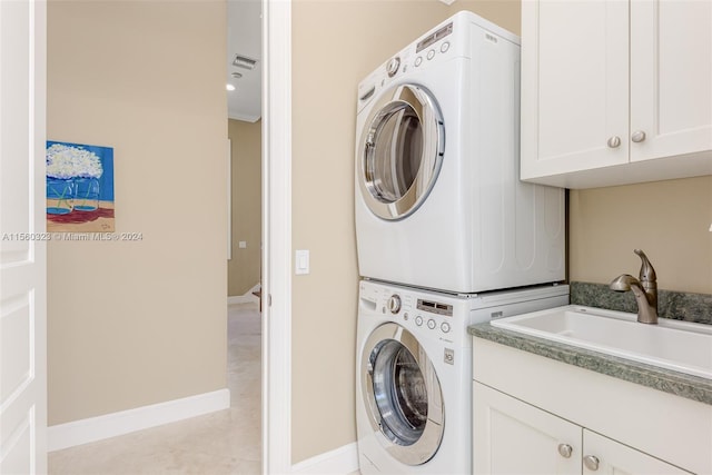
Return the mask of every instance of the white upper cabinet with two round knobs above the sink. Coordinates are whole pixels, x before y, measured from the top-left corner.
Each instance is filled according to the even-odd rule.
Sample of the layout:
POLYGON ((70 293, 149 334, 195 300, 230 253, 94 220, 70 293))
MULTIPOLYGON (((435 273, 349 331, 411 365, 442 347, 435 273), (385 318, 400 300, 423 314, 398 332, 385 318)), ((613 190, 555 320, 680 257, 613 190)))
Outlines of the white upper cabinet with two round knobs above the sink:
POLYGON ((522 2, 522 179, 712 175, 712 1, 522 2))

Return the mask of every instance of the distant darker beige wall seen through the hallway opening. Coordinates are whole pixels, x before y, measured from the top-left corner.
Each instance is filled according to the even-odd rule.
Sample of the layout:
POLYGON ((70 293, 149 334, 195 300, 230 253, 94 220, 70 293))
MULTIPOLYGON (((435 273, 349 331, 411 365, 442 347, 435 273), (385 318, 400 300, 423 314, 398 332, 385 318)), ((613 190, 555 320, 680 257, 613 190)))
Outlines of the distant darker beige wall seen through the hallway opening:
POLYGON ((260 278, 261 120, 228 120, 231 140, 233 258, 227 263, 227 295, 244 295, 260 278), (239 241, 247 247, 240 249, 239 241))

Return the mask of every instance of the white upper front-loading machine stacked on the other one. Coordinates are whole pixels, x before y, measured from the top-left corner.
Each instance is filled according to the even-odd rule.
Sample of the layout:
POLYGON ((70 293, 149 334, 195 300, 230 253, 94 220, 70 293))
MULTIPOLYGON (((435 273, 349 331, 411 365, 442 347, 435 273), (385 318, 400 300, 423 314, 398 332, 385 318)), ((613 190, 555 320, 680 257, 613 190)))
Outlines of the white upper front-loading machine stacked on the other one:
POLYGON ((520 43, 461 11, 358 87, 359 274, 456 293, 564 279, 564 190, 518 180, 520 43))

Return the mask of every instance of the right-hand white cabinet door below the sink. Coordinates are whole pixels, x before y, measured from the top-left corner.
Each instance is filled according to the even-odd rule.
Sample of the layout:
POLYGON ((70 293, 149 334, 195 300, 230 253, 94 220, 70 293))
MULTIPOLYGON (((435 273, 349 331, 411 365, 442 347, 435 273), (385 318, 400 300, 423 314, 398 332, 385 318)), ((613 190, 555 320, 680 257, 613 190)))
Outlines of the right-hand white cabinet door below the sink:
POLYGON ((672 475, 690 474, 619 442, 583 429, 584 474, 672 475), (586 458, 589 457, 589 461, 586 458), (595 457, 595 459, 590 458, 595 457))

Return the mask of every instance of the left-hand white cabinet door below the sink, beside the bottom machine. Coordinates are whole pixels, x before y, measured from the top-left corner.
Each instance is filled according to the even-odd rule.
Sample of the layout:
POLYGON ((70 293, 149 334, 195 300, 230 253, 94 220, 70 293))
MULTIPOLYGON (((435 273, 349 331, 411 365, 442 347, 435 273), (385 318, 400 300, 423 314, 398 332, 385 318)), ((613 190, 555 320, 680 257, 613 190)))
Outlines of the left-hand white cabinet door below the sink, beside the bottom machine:
POLYGON ((473 400, 474 473, 581 474, 580 426, 476 382, 473 400))

